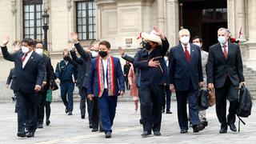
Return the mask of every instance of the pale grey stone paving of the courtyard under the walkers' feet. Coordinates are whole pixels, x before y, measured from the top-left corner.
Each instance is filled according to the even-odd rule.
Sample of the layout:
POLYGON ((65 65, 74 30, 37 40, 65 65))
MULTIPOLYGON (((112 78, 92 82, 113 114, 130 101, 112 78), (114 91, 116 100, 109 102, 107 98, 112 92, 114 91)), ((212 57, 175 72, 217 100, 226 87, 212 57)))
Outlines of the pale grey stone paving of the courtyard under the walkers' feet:
MULTIPOLYGON (((180 134, 176 102, 171 103, 173 114, 162 115, 162 136, 152 135, 141 138, 142 126, 138 120, 140 114, 134 114, 133 102, 118 102, 114 119, 112 138, 106 139, 103 133, 90 132, 88 118, 80 118, 79 103, 74 103, 74 115, 64 114, 62 102, 51 104, 50 126, 37 130, 34 138, 18 138, 17 114, 14 113, 14 102, 0 103, 0 143, 256 143, 256 108, 253 107, 250 118, 244 118, 246 126, 241 126, 240 133, 228 130, 227 134, 218 134, 219 123, 214 107, 207 110, 209 126, 194 134, 180 134)), ((236 122, 238 127, 238 121, 236 122)))

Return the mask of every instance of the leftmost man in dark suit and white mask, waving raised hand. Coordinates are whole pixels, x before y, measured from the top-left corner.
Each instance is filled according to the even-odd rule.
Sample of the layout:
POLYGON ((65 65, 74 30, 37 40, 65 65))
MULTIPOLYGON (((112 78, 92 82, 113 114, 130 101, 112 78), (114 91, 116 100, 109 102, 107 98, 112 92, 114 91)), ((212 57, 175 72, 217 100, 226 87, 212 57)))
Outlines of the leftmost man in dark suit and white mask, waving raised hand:
POLYGON ((16 78, 13 79, 13 90, 18 102, 18 137, 34 137, 37 129, 37 96, 35 92, 41 90, 46 70, 41 55, 33 51, 34 41, 31 38, 22 40, 22 51, 9 54, 6 38, 1 45, 3 57, 14 62, 16 78), (25 132, 25 124, 28 134, 25 132))

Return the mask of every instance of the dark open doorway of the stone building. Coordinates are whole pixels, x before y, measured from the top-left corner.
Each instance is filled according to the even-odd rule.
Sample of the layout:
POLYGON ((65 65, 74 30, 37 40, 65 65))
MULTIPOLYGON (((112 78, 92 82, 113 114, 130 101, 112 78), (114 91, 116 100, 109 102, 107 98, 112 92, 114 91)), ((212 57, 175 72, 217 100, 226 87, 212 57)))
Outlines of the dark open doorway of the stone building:
POLYGON ((225 0, 179 0, 180 28, 190 30, 191 38, 199 35, 203 48, 218 42, 217 30, 227 27, 225 0))

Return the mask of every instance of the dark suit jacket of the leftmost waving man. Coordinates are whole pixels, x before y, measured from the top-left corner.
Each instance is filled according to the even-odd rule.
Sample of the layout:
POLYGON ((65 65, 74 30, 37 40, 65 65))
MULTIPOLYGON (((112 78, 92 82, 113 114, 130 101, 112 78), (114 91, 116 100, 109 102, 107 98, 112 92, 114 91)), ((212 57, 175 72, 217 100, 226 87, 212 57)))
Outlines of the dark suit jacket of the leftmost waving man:
POLYGON ((2 55, 8 61, 14 62, 14 71, 16 77, 13 78, 13 90, 20 90, 26 93, 34 93, 34 86, 42 86, 45 78, 46 67, 41 55, 32 52, 30 59, 26 62, 26 66, 22 68, 21 58, 23 56, 21 51, 14 54, 9 54, 7 47, 3 46, 2 55))

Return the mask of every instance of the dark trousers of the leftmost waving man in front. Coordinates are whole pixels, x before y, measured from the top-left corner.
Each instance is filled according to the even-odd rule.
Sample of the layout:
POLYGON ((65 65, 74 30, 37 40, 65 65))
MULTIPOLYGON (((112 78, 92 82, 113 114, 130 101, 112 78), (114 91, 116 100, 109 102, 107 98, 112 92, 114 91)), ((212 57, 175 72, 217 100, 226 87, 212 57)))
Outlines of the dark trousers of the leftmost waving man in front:
POLYGON ((37 95, 34 93, 24 93, 19 90, 15 91, 15 94, 18 106, 18 132, 25 131, 25 124, 29 132, 35 132, 38 122, 37 95))

